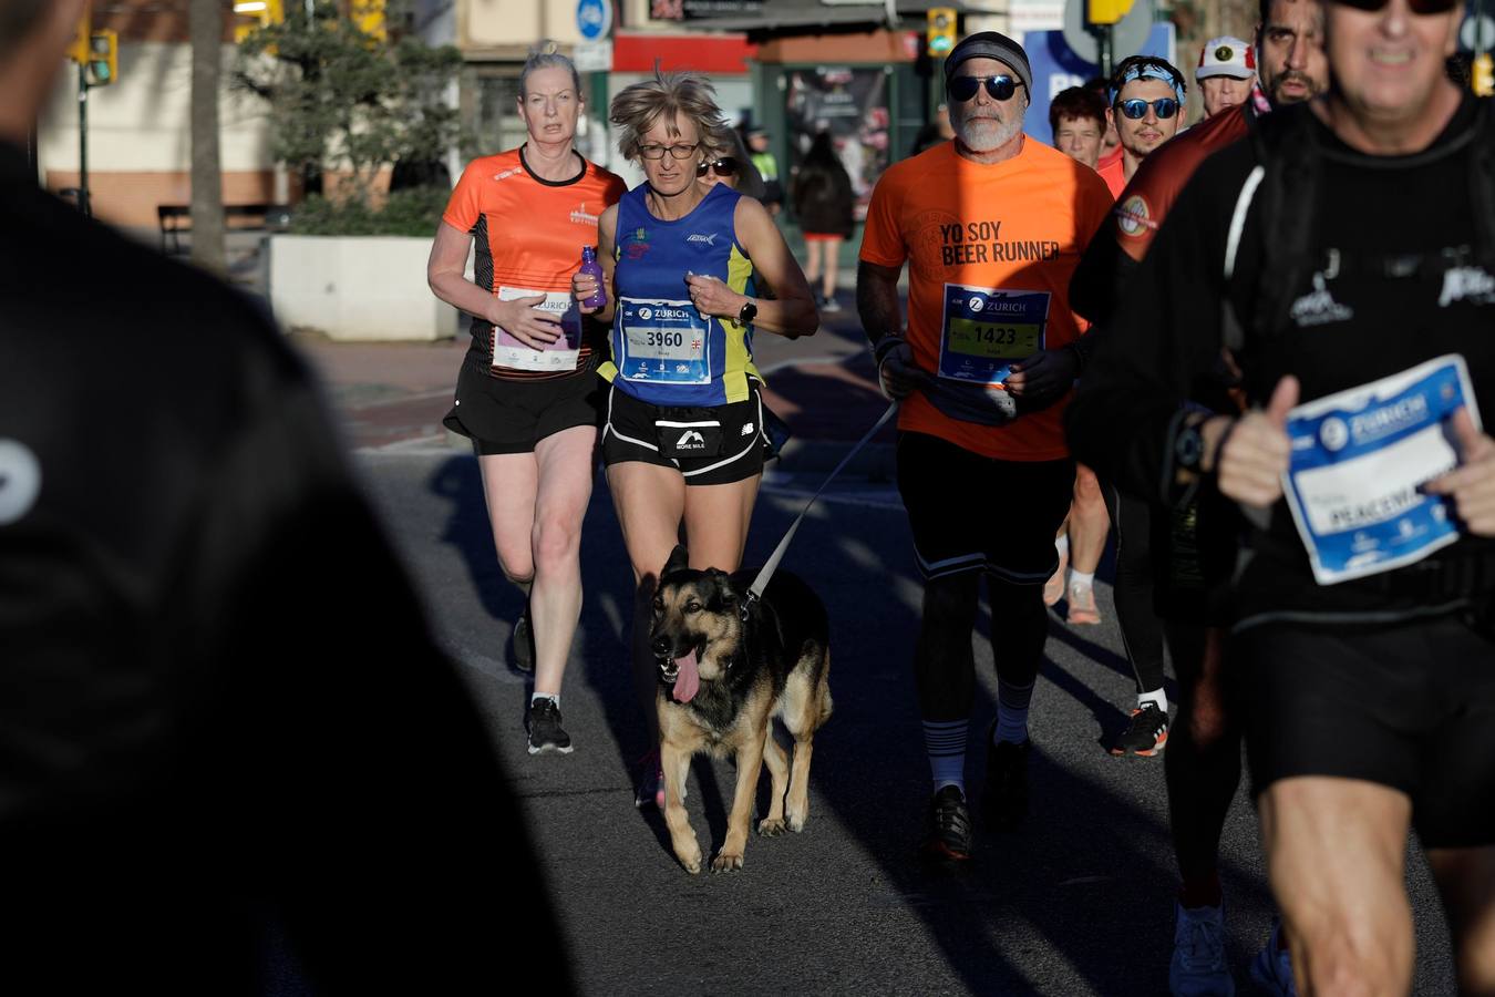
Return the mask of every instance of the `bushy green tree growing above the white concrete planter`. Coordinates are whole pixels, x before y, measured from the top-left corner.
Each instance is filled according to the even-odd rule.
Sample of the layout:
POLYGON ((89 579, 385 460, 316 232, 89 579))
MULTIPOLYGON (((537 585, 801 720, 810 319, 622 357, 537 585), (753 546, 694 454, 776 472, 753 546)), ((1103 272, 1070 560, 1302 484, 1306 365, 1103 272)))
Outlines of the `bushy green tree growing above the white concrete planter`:
POLYGON ((271 151, 303 193, 321 193, 324 173, 345 170, 351 182, 338 197, 368 200, 380 169, 440 160, 456 141, 446 91, 462 55, 395 30, 402 6, 389 3, 387 39, 318 0, 309 13, 287 4, 284 21, 239 43, 235 82, 269 103, 271 151))

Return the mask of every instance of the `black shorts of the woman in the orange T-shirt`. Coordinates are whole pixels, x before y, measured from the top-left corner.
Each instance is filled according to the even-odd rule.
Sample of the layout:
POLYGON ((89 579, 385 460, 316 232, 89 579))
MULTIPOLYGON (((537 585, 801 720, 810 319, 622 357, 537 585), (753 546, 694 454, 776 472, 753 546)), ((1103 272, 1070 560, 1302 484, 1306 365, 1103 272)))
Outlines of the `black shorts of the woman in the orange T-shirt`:
POLYGON ((562 429, 598 426, 607 383, 595 366, 571 377, 511 381, 487 372, 483 354, 468 353, 456 399, 441 423, 468 436, 480 454, 532 453, 562 429))

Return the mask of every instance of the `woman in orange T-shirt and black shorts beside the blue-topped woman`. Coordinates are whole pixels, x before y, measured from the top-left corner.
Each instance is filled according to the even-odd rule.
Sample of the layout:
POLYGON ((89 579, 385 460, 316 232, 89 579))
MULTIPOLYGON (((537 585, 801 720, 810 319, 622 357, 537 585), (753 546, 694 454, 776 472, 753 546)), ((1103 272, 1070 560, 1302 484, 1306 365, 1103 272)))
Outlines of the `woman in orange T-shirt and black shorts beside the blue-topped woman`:
POLYGON ((582 517, 607 353, 571 302, 571 274, 582 247, 597 245, 597 217, 626 190, 573 145, 582 93, 565 55, 529 57, 517 99, 528 139, 466 167, 426 266, 437 297, 472 317, 446 426, 472 439, 498 564, 528 596, 513 647, 535 673, 531 755, 571 752, 561 683, 582 614, 582 517), (475 284, 465 277, 474 244, 475 284))

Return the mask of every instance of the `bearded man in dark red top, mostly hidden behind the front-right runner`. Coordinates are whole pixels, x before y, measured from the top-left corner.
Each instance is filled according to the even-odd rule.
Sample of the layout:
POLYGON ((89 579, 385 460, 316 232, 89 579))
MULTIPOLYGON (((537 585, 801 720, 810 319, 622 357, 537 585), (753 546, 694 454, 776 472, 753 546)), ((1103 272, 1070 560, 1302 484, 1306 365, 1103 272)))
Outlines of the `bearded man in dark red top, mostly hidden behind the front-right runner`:
MULTIPOLYGON (((1139 262, 1199 164, 1245 138, 1272 108, 1299 103, 1328 88, 1319 0, 1262 0, 1256 45, 1260 85, 1239 108, 1200 121, 1150 155, 1085 250, 1070 296, 1075 309, 1102 329, 1115 302, 1130 293, 1139 262)), ((1094 347, 1094 341, 1087 345, 1094 347)), ((1238 411, 1227 395, 1232 377, 1209 383, 1211 396, 1196 392, 1193 401, 1238 411)), ((1117 617, 1138 682, 1136 710, 1112 750, 1147 750, 1163 737, 1168 743, 1163 771, 1181 880, 1169 985, 1177 997, 1227 993, 1233 982, 1226 960, 1218 854, 1224 819, 1241 782, 1241 723, 1226 709, 1221 688, 1221 626, 1227 620, 1217 593, 1232 567, 1236 531, 1224 525, 1199 535, 1199 501, 1218 502, 1211 490, 1172 510, 1145 496, 1120 493, 1109 484, 1106 496, 1114 502, 1118 535, 1117 617), (1206 558, 1217 547, 1218 555, 1206 558), (1208 571, 1206 559, 1212 562, 1208 571), (1163 692, 1165 635, 1178 688, 1172 720, 1163 692)), ((1290 993, 1292 969, 1280 931, 1272 933, 1253 961, 1251 973, 1271 993, 1290 993)))

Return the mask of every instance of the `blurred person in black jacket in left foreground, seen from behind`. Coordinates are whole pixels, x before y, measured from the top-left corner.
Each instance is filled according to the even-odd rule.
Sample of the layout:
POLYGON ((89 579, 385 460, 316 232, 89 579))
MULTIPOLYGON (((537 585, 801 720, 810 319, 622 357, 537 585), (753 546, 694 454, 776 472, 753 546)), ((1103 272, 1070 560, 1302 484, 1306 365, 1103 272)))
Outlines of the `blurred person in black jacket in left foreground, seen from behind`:
POLYGON ((0 984, 496 993, 565 957, 311 380, 39 190, 81 0, 0 0, 0 984))

